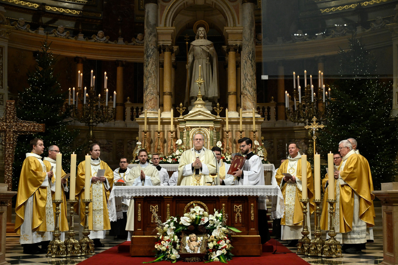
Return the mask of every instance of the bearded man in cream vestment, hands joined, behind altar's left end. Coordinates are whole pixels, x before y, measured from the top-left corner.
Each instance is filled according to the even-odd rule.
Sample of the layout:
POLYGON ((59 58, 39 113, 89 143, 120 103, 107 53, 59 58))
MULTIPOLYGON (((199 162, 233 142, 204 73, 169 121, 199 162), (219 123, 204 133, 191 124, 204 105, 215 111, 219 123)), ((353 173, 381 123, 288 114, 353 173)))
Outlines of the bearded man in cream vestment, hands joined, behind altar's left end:
MULTIPOLYGON (((148 153, 145 149, 138 151, 139 164, 133 167, 126 176, 127 186, 160 186, 159 171, 148 163, 148 153)), ((134 231, 134 200, 130 200, 127 211, 126 230, 129 231, 127 241, 131 240, 134 231)))

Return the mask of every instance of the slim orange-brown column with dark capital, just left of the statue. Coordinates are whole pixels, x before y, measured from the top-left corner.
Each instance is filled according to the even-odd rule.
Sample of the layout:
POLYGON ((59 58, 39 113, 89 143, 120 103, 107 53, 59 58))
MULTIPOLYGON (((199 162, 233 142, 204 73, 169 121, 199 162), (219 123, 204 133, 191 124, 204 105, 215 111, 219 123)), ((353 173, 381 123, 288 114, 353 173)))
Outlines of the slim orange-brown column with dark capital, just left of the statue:
POLYGON ((162 118, 170 118, 172 109, 172 53, 174 47, 173 45, 162 45, 161 48, 164 54, 162 118))

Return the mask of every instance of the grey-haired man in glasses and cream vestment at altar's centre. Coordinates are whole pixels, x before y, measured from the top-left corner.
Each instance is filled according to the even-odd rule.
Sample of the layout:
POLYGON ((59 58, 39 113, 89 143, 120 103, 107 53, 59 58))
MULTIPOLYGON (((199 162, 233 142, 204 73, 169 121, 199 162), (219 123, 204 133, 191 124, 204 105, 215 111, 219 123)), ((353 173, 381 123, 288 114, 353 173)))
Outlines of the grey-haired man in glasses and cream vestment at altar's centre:
MULTIPOLYGON (((178 164, 178 186, 202 186, 212 183, 210 173, 217 173, 217 160, 212 151, 203 147, 205 137, 196 133, 193 136, 193 147, 182 153, 178 164), (195 174, 199 175, 198 179, 195 174)), ((218 178, 216 178, 218 185, 218 178)))

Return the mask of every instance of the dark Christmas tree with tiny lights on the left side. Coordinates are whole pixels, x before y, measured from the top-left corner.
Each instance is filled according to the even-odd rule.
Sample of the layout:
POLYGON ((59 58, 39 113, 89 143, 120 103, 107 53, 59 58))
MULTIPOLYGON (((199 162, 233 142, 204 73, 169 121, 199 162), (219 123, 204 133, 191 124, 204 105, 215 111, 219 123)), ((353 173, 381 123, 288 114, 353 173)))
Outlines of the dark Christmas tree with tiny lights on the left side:
MULTIPOLYGON (((51 43, 50 43, 51 44, 51 43)), ((43 139, 46 147, 42 157, 48 155, 48 147, 57 145, 62 153, 62 168, 69 172, 70 154, 79 152, 82 148, 72 148, 72 141, 78 132, 67 128, 69 120, 67 112, 62 112, 68 92, 62 92, 54 74, 53 67, 57 58, 49 52, 50 44, 44 41, 41 50, 35 52, 36 66, 27 74, 29 87, 19 94, 17 103, 17 117, 45 124, 45 132, 34 135, 20 135, 15 151, 13 164, 12 188, 18 189, 21 166, 25 153, 29 153, 29 142, 33 138, 43 139)))

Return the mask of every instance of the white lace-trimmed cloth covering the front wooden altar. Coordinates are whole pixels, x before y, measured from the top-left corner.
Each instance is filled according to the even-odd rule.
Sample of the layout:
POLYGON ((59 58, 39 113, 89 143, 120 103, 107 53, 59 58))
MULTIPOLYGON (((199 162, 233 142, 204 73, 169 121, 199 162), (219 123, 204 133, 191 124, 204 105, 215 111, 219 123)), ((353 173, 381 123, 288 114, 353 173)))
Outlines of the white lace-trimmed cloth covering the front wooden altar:
POLYGON ((285 213, 283 195, 278 186, 114 186, 108 199, 109 219, 116 221, 115 197, 133 199, 145 196, 258 196, 259 202, 272 200, 271 219, 282 218, 285 213))

